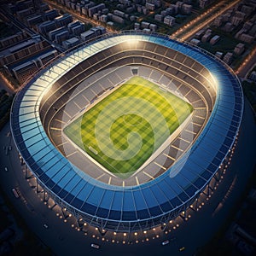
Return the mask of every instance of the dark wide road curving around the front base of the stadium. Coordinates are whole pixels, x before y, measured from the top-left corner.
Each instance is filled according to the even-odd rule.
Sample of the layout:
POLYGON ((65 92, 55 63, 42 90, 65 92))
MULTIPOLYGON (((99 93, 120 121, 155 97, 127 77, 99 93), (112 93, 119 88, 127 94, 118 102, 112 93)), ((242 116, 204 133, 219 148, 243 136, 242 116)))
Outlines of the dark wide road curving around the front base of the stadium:
POLYGON ((6 155, 3 147, 0 148, 0 183, 4 191, 9 196, 10 201, 15 205, 20 216, 25 219, 28 226, 38 237, 52 248, 56 255, 73 256, 83 254, 90 255, 122 255, 135 256, 148 254, 155 255, 180 255, 180 247, 185 247, 183 255, 191 256, 197 248, 202 247, 209 241, 212 235, 218 231, 221 224, 224 224, 229 210, 233 207, 237 198, 240 197, 242 189, 247 183, 248 177, 253 172, 255 165, 256 146, 256 126, 253 121, 253 113, 246 104, 244 119, 241 125, 241 132, 234 155, 234 159, 225 174, 222 183, 219 183, 217 193, 213 193, 211 199, 206 201, 204 207, 199 212, 192 214, 187 222, 180 221, 180 227, 172 230, 170 235, 177 237, 175 241, 166 246, 161 246, 161 241, 166 240, 170 235, 161 234, 158 239, 139 242, 138 244, 123 245, 121 243, 111 243, 110 241, 99 241, 90 235, 84 236, 83 232, 78 232, 71 228, 70 224, 64 224, 63 220, 57 218, 55 212, 50 210, 38 198, 35 191, 30 187, 28 181, 21 172, 20 160, 15 150, 11 137, 7 137, 9 125, 6 125, 0 132, 2 145, 12 146, 12 150, 6 155), (5 172, 7 166, 9 171, 5 172), (247 172, 245 172, 247 171, 247 172), (24 200, 16 199, 11 189, 20 188, 20 193, 24 200), (221 204, 220 204, 221 203, 221 204), (27 207, 29 204, 30 207, 27 207), (33 211, 31 210, 33 209, 33 211), (49 228, 45 229, 44 224, 49 228), (100 250, 90 247, 91 242, 101 245, 100 250))

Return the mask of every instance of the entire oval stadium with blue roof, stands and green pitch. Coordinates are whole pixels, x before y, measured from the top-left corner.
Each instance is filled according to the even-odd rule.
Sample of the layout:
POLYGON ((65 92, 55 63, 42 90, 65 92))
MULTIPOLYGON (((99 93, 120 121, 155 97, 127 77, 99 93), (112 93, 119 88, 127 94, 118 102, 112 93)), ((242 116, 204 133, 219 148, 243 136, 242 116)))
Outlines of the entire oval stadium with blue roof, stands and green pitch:
POLYGON ((101 230, 186 214, 230 162, 241 84, 214 55, 168 36, 110 33, 61 55, 15 96, 11 131, 57 205, 101 230))

